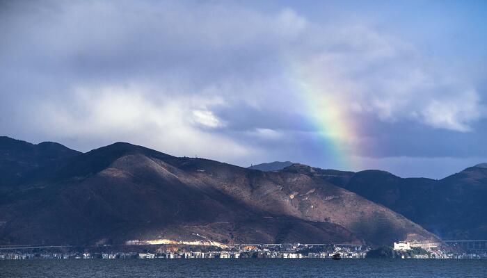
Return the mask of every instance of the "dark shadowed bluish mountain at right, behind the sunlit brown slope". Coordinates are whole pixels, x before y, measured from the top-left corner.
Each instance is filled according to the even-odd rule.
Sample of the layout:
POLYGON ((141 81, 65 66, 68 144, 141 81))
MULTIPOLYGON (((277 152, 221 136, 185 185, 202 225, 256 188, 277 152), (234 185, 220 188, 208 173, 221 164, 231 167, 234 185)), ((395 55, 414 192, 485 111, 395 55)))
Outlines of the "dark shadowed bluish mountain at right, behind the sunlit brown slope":
POLYGON ((474 240, 487 234, 486 165, 440 180, 403 179, 378 170, 322 177, 406 216, 445 240, 474 240))

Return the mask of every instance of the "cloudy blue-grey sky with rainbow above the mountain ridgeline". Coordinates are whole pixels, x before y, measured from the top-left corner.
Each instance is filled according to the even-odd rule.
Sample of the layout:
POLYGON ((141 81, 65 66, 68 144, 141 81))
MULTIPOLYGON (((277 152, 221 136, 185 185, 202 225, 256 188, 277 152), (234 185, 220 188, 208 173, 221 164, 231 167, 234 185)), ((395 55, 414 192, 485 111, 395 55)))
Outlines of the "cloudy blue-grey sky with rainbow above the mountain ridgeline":
POLYGON ((439 179, 487 162, 486 1, 0 1, 0 133, 439 179))

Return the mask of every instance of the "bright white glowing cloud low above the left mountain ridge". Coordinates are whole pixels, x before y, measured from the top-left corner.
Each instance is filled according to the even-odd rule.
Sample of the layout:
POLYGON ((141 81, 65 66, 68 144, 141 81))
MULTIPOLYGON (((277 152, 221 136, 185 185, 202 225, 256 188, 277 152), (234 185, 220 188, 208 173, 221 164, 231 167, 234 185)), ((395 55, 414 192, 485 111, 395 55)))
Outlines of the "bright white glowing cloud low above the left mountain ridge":
POLYGON ((73 104, 46 102, 37 110, 42 117, 32 121, 54 138, 95 138, 98 144, 118 138, 179 156, 238 160, 255 152, 253 147, 234 142, 225 134, 194 126, 194 115, 198 124, 218 126, 218 119, 210 111, 194 110, 202 105, 221 105, 218 100, 185 95, 154 99, 150 90, 137 85, 76 88, 73 104))

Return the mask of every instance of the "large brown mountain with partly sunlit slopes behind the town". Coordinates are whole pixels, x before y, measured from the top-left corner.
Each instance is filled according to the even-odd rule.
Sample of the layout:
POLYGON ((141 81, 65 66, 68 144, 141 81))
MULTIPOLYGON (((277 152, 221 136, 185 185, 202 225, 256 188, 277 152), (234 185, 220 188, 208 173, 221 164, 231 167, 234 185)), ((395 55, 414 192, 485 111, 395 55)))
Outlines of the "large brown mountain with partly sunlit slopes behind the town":
MULTIPOLYGON (((18 161, 13 154, 23 153, 2 156, 18 161)), ((48 174, 0 195, 0 244, 438 240, 305 165, 262 172, 123 142, 48 161, 56 161, 48 174)))

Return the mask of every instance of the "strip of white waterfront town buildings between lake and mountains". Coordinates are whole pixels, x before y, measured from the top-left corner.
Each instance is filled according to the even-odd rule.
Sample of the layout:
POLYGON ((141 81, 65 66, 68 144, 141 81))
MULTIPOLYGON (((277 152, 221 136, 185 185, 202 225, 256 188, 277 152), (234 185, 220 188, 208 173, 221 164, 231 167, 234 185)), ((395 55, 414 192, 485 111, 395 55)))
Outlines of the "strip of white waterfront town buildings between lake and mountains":
POLYGON ((364 259, 390 250, 401 259, 487 259, 487 252, 468 252, 458 248, 439 248, 435 244, 394 243, 372 250, 366 245, 344 244, 261 244, 228 247, 195 245, 150 245, 137 250, 117 247, 0 247, 0 260, 24 259, 364 259), (15 249, 17 248, 17 249, 15 249))

